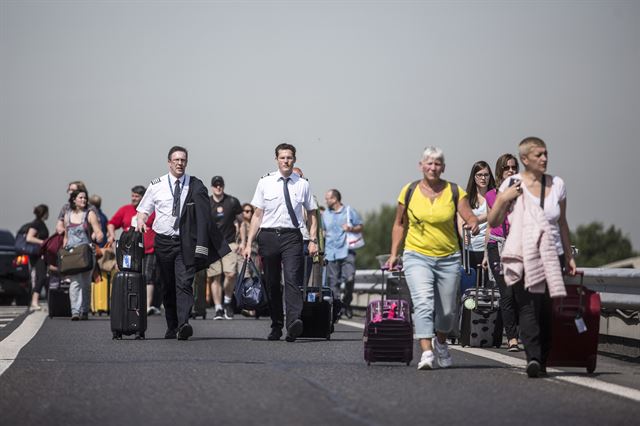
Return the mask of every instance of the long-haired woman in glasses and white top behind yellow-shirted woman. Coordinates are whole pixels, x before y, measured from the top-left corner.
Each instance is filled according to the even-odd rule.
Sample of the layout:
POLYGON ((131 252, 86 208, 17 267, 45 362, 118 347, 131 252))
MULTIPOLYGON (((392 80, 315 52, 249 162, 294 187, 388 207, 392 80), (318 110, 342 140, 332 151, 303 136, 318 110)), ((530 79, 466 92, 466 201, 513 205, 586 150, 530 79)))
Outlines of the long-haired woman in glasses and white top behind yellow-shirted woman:
MULTIPOLYGON (((469 204, 473 210, 473 214, 478 218, 479 231, 477 235, 471 237, 471 241, 465 238, 465 244, 469 247, 469 263, 471 268, 477 268, 482 264, 484 268, 487 267, 487 261, 485 260, 485 234, 487 232, 487 201, 485 195, 487 191, 496 187, 496 181, 491 173, 491 167, 486 161, 477 161, 471 167, 471 174, 469 175, 469 181, 467 182, 467 196, 469 198, 469 204)), ((460 235, 462 234, 464 223, 458 218, 458 224, 460 235)), ((485 283, 488 279, 488 273, 483 268, 477 268, 478 274, 484 273, 485 283)))

